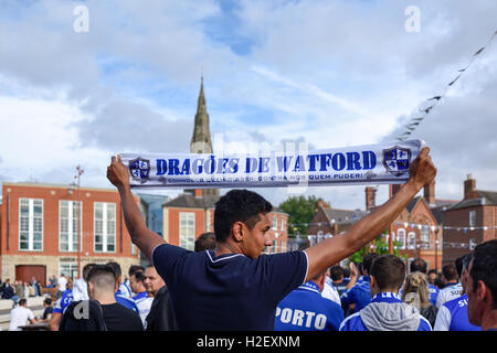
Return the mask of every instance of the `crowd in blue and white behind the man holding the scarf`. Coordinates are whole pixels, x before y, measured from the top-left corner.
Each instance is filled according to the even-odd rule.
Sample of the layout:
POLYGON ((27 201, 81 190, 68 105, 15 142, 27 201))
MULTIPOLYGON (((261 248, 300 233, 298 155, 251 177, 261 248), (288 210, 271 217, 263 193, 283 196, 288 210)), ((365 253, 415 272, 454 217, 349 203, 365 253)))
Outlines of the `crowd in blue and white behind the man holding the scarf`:
MULTIPOLYGON (((214 247, 212 233, 195 242, 197 252, 214 247)), ((440 272, 427 271, 421 258, 406 268, 394 255, 367 254, 362 263, 332 266, 290 291, 277 304, 274 330, 480 331, 482 322, 468 315, 468 292, 485 301, 476 293, 483 286, 490 298, 488 310, 495 312, 496 252, 497 240, 484 243, 440 272), (478 278, 483 278, 482 285, 475 282, 478 278)), ((157 269, 152 265, 130 266, 127 275, 121 281, 117 263, 87 264, 74 285, 71 279, 56 281, 54 288, 62 293, 54 303, 50 297, 44 299, 41 317, 27 308, 27 298, 35 296, 27 288, 40 284, 35 279, 24 284, 15 280, 12 286, 6 280, 0 286, 1 296, 14 301, 9 330, 35 322, 45 322, 55 331, 178 330, 168 288, 157 269), (87 304, 86 317, 81 307, 76 310, 82 303, 87 304)), ((53 287, 53 282, 47 286, 53 287)), ((482 315, 476 307, 473 312, 482 315)))

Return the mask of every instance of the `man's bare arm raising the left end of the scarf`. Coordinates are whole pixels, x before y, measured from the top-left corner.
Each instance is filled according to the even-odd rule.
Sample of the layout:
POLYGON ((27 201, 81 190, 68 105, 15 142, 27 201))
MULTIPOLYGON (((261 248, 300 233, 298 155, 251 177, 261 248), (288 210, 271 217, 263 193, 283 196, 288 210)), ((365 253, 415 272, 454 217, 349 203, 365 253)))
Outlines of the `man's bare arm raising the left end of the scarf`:
POLYGON ((147 228, 144 216, 131 194, 129 186, 129 172, 120 160, 120 156, 112 158, 110 165, 107 167, 107 179, 117 188, 120 195, 126 227, 128 228, 131 242, 147 256, 150 261, 154 248, 165 244, 166 240, 157 233, 147 228))

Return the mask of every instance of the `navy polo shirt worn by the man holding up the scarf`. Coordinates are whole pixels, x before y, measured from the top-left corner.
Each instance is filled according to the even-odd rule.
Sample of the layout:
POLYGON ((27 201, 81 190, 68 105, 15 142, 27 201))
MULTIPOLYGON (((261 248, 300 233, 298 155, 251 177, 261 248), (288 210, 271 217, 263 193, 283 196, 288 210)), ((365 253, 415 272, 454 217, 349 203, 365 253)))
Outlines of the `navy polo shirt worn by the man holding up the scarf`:
POLYGON ((274 330, 277 303, 303 285, 302 252, 215 257, 170 244, 152 252, 154 266, 168 286, 179 330, 274 330))

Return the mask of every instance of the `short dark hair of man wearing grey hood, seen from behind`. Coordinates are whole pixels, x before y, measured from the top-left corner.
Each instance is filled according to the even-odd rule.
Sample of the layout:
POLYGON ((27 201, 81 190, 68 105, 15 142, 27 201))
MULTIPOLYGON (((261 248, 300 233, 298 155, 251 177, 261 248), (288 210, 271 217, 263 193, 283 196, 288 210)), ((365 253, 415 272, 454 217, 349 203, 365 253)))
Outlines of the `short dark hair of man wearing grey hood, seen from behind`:
POLYGON ((382 255, 372 263, 370 275, 380 290, 399 289, 405 278, 405 265, 395 255, 382 255))

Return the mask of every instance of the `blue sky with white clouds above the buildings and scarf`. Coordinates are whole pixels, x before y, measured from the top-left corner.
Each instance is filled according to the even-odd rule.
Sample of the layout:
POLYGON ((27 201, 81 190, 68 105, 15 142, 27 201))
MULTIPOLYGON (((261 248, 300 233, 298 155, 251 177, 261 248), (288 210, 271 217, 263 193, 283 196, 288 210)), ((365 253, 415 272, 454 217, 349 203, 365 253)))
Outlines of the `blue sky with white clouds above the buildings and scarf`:
MULTIPOLYGON (((491 0, 0 0, 0 182, 110 188, 118 152, 186 152, 204 77, 211 132, 229 151, 392 141, 496 30, 491 0), (73 29, 88 9, 88 32, 73 29)), ((497 50, 490 45, 415 130, 438 167, 436 195, 473 173, 494 190, 497 50)), ((176 195, 180 191, 168 191, 176 195)), ((260 192, 274 204, 288 193, 260 192)), ((363 208, 363 186, 310 188, 363 208)), ((387 199, 380 186, 378 203, 387 199)))

